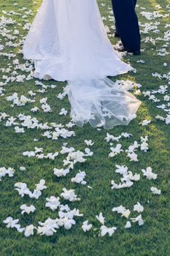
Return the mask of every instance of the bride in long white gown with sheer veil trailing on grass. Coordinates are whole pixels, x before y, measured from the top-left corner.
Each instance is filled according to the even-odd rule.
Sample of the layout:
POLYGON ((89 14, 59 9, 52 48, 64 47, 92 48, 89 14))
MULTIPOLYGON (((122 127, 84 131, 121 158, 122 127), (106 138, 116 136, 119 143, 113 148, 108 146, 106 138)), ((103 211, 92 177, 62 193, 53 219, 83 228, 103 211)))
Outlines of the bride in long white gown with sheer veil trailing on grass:
POLYGON ((120 60, 96 0, 44 0, 23 45, 34 77, 67 81, 72 120, 82 127, 128 125, 140 101, 107 76, 133 68, 120 60))

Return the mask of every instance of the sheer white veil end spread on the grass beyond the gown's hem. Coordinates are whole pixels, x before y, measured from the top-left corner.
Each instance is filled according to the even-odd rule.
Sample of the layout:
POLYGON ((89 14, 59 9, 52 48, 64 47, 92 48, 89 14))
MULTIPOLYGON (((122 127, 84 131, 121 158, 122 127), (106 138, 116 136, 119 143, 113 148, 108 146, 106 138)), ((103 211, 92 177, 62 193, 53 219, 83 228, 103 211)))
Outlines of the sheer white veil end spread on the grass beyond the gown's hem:
POLYGON ((133 94, 108 78, 69 81, 69 102, 78 126, 90 122, 92 127, 105 129, 128 125, 140 105, 133 94))

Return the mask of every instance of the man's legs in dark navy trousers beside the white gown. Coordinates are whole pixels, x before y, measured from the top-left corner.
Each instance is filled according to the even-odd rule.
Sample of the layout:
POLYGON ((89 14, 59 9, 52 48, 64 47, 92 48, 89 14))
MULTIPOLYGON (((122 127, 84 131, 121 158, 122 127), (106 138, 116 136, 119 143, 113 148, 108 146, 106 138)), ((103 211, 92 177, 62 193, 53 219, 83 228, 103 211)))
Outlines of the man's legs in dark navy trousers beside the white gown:
POLYGON ((140 31, 135 12, 137 0, 112 0, 116 20, 115 37, 119 36, 122 45, 117 50, 140 54, 140 31))

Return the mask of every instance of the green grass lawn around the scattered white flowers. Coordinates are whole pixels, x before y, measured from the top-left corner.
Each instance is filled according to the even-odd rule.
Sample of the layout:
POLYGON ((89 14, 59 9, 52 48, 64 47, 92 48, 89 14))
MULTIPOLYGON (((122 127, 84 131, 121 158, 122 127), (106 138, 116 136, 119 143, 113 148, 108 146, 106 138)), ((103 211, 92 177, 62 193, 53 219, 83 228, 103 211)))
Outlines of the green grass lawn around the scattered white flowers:
MULTIPOLYGON (((0 15, 4 15, 7 18, 15 20, 15 25, 7 26, 12 34, 14 29, 18 29, 20 34, 17 39, 12 42, 19 42, 27 34, 27 30, 23 30, 23 24, 26 20, 31 22, 36 14, 36 10, 41 3, 40 0, 23 1, 23 0, 1 0, 0 1, 0 15), (14 5, 15 2, 18 3, 14 5), (26 10, 32 10, 34 15, 25 15, 25 10, 21 10, 26 7, 26 10), (15 11, 20 13, 12 16, 3 14, 2 11, 7 13, 15 11)), ((108 16, 111 15, 111 1, 98 0, 101 14, 106 20, 105 25, 110 27, 110 34, 113 34, 111 26, 112 20, 109 20, 108 16), (101 3, 105 2, 106 6, 102 6, 101 3)), ((170 15, 170 7, 168 6, 168 0, 139 0, 136 10, 139 15, 139 21, 142 31, 144 30, 144 24, 151 23, 155 25, 157 23, 158 33, 152 29, 148 34, 142 32, 142 40, 147 37, 156 39, 157 37, 163 37, 164 33, 169 30, 169 27, 165 27, 170 23, 169 17, 155 18, 153 20, 147 20, 141 12, 154 12, 158 11, 162 15, 170 15), (158 7, 161 5, 161 9, 158 7), (144 9, 145 8, 145 9, 144 9)), ((1 23, 1 21, 0 21, 1 23)), ((1 31, 1 26, 0 26, 1 31)), ((114 37, 109 37, 113 44, 117 42, 114 37)), ((0 33, 0 45, 6 45, 10 39, 3 37, 0 33)), ((131 65, 136 68, 136 73, 129 73, 121 75, 120 77, 112 78, 113 80, 134 80, 136 83, 142 85, 141 91, 158 90, 159 86, 170 86, 166 78, 158 79, 152 77, 152 73, 158 72, 159 74, 167 74, 169 72, 170 61, 169 55, 158 56, 158 51, 161 48, 165 48, 168 41, 156 40, 155 45, 152 42, 142 41, 142 55, 141 56, 125 56, 125 61, 130 61, 131 65), (144 64, 136 62, 142 59, 144 64), (167 63, 167 67, 163 67, 163 63, 167 63)), ((14 59, 19 59, 20 64, 23 64, 22 54, 18 53, 21 47, 9 47, 5 46, 4 50, 0 50, 0 53, 16 53, 17 56, 14 59)), ((168 51, 169 48, 166 48, 168 51)), ((7 68, 11 65, 13 71, 14 64, 13 59, 7 59, 4 56, 0 56, 0 84, 4 80, 2 75, 11 75, 6 72, 2 72, 2 68, 7 68)), ((17 70, 19 74, 28 75, 26 72, 17 70)), ((45 94, 37 92, 41 89, 41 86, 35 85, 35 80, 24 80, 23 83, 9 82, 4 86, 4 95, 0 97, 0 112, 7 113, 9 116, 16 118, 19 113, 24 115, 31 115, 39 120, 39 123, 50 125, 51 122, 57 124, 67 124, 70 121, 69 114, 67 116, 60 116, 61 108, 70 110, 69 101, 65 97, 62 101, 57 98, 57 95, 63 91, 63 86, 66 83, 57 83, 55 81, 43 81, 46 85, 54 84, 55 89, 47 89, 45 94), (8 102, 6 97, 17 92, 18 95, 25 95, 30 97, 28 91, 32 90, 36 92, 36 102, 28 103, 25 106, 10 107, 12 102, 8 102), (41 109, 39 99, 47 97, 47 103, 50 104, 53 112, 44 113, 41 109), (40 111, 37 113, 31 112, 31 108, 37 106, 40 111)), ((169 88, 166 92, 169 95, 169 88)), ((47 139, 42 136, 45 131, 41 129, 25 129, 25 133, 15 133, 14 126, 5 127, 4 124, 7 121, 2 120, 0 122, 0 167, 12 167, 15 169, 15 175, 12 178, 8 176, 1 178, 0 188, 0 255, 6 256, 69 256, 69 255, 102 255, 102 256, 169 256, 170 255, 170 129, 169 124, 165 124, 164 121, 159 121, 155 118, 157 115, 166 117, 166 112, 156 108, 156 105, 166 104, 168 102, 163 101, 163 95, 155 94, 155 97, 161 99, 161 102, 152 102, 148 97, 144 97, 142 94, 137 96, 142 100, 141 108, 137 112, 137 117, 131 121, 128 127, 118 126, 109 130, 111 135, 121 135, 122 132, 128 132, 133 135, 129 139, 120 140, 123 149, 127 149, 131 143, 135 140, 140 142, 141 136, 148 136, 149 138, 149 151, 136 151, 138 154, 139 162, 130 162, 126 157, 125 152, 118 154, 114 158, 109 158, 110 146, 104 138, 106 138, 107 131, 104 129, 97 130, 86 124, 83 128, 73 127, 76 136, 71 138, 59 138, 58 140, 47 139), (142 127, 139 124, 144 119, 151 120, 151 124, 142 127), (34 141, 36 138, 38 141, 34 141), (50 159, 36 159, 35 157, 28 158, 23 157, 24 151, 34 151, 34 147, 44 148, 44 153, 55 153, 55 151, 61 151, 63 143, 68 143, 68 147, 74 147, 75 150, 84 151, 87 147, 84 140, 93 140, 94 145, 91 146, 93 151, 93 157, 88 157, 85 163, 77 163, 66 177, 57 178, 53 174, 53 168, 62 168, 63 159, 65 155, 59 154, 58 157, 52 161, 50 159), (140 173, 141 179, 134 183, 134 186, 128 189, 111 189, 111 180, 114 179, 117 183, 120 182, 120 175, 115 173, 115 165, 126 165, 133 173, 140 173), (20 170, 20 166, 26 167, 26 170, 20 170), (158 178, 154 180, 147 180, 142 175, 142 169, 151 166, 152 171, 158 174, 158 178), (71 178, 76 175, 79 170, 84 170, 87 174, 85 180, 88 181, 88 185, 93 189, 82 186, 80 184, 74 184, 71 178), (16 182, 25 182, 28 188, 34 190, 35 184, 39 183, 40 179, 44 178, 46 181, 47 189, 42 191, 42 196, 39 200, 30 199, 28 196, 20 197, 18 192, 14 190, 16 182), (84 214, 83 217, 76 218, 76 225, 71 230, 64 230, 61 227, 57 230, 57 233, 51 237, 36 235, 26 238, 23 233, 18 233, 17 230, 5 227, 3 220, 11 216, 14 219, 20 219, 21 227, 34 224, 38 226, 38 222, 44 222, 48 217, 55 219, 58 217, 58 211, 51 211, 45 207, 46 197, 54 195, 60 196, 63 187, 67 189, 75 189, 76 194, 81 197, 80 201, 75 203, 68 203, 61 200, 61 203, 68 203, 70 208, 79 208, 80 213, 84 214), (157 187, 161 189, 161 195, 153 195, 150 191, 150 187, 157 187), (133 211, 134 204, 140 202, 144 206, 144 212, 142 217, 144 219, 144 225, 139 227, 137 223, 132 223, 130 229, 125 229, 126 219, 121 217, 120 214, 113 213, 112 208, 120 205, 125 206, 131 210, 131 217, 136 217, 137 213, 133 211), (30 215, 21 215, 20 206, 26 203, 27 205, 33 204, 36 207, 36 211, 30 215), (112 237, 98 236, 98 228, 101 226, 96 215, 100 212, 106 218, 107 227, 115 226, 117 230, 112 237), (93 229, 89 233, 83 233, 82 222, 86 219, 89 223, 93 224, 93 229), (96 230, 97 228, 97 230, 96 230)), ((30 97, 31 98, 31 97, 30 97)), ((0 119, 1 120, 1 119, 0 119)), ((19 125, 20 126, 20 125, 19 125)), ((113 146, 117 143, 113 142, 113 146)))

